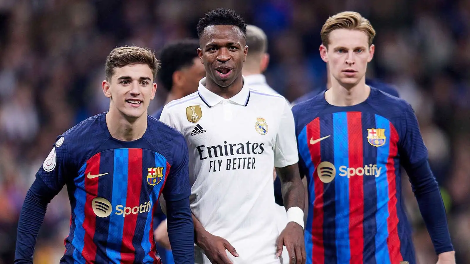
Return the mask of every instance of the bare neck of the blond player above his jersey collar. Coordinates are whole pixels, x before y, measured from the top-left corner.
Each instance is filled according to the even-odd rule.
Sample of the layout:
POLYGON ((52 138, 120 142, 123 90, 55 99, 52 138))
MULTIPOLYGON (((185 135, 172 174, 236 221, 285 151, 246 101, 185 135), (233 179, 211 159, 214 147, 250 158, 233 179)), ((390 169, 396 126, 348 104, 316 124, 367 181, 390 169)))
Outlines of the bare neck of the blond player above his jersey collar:
POLYGON ((331 87, 325 92, 325 100, 334 106, 352 106, 366 101, 369 93, 370 87, 362 82, 352 87, 331 82, 331 87))

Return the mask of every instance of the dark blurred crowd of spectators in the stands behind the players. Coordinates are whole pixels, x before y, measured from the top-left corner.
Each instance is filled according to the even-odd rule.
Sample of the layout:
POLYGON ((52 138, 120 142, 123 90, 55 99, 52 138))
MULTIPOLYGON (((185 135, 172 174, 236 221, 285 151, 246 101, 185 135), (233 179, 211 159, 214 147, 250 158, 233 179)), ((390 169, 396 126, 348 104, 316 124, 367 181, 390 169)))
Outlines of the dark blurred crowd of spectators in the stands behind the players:
MULTIPOLYGON (((371 21, 368 77, 396 85, 415 109, 458 263, 470 263, 469 0, 0 0, 0 264, 13 263, 24 196, 56 136, 108 109, 101 82, 110 50, 158 51, 196 37, 198 18, 217 7, 266 31, 267 82, 290 101, 325 83, 318 47, 328 16, 352 10, 371 21)), ((165 96, 159 89, 150 112, 165 96)), ((420 264, 435 263, 406 176, 403 186, 420 264)), ((35 263, 58 263, 69 221, 64 188, 48 207, 35 263)))

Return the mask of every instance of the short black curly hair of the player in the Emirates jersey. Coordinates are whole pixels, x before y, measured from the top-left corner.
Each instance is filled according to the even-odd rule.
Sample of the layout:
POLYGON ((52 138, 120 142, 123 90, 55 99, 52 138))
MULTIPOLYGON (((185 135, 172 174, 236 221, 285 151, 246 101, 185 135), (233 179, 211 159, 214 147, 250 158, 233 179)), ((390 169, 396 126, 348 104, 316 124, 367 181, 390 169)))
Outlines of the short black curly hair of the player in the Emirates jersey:
POLYGON ((235 13, 232 9, 217 8, 204 14, 197 23, 197 36, 200 38, 204 29, 215 25, 237 26, 246 36, 246 23, 243 17, 235 13))

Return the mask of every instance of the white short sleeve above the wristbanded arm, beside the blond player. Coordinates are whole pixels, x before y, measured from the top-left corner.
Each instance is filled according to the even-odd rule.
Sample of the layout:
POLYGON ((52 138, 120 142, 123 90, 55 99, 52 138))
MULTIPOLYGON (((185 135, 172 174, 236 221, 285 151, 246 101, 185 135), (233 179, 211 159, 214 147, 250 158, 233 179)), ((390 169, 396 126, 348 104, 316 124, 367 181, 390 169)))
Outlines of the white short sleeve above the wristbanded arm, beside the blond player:
POLYGON ((298 162, 295 124, 289 103, 284 101, 274 146, 274 167, 282 168, 298 162))

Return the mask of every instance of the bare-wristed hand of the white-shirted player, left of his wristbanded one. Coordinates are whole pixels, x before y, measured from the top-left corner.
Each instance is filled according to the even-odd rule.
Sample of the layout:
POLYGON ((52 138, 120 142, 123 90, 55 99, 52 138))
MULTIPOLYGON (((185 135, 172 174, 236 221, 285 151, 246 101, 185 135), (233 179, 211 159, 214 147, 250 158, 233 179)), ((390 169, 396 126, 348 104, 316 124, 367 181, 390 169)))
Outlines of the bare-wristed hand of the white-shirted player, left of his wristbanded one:
POLYGON ((198 235, 197 245, 204 250, 204 254, 212 264, 233 264, 225 252, 226 249, 233 256, 238 256, 235 248, 227 240, 209 232, 198 235))

